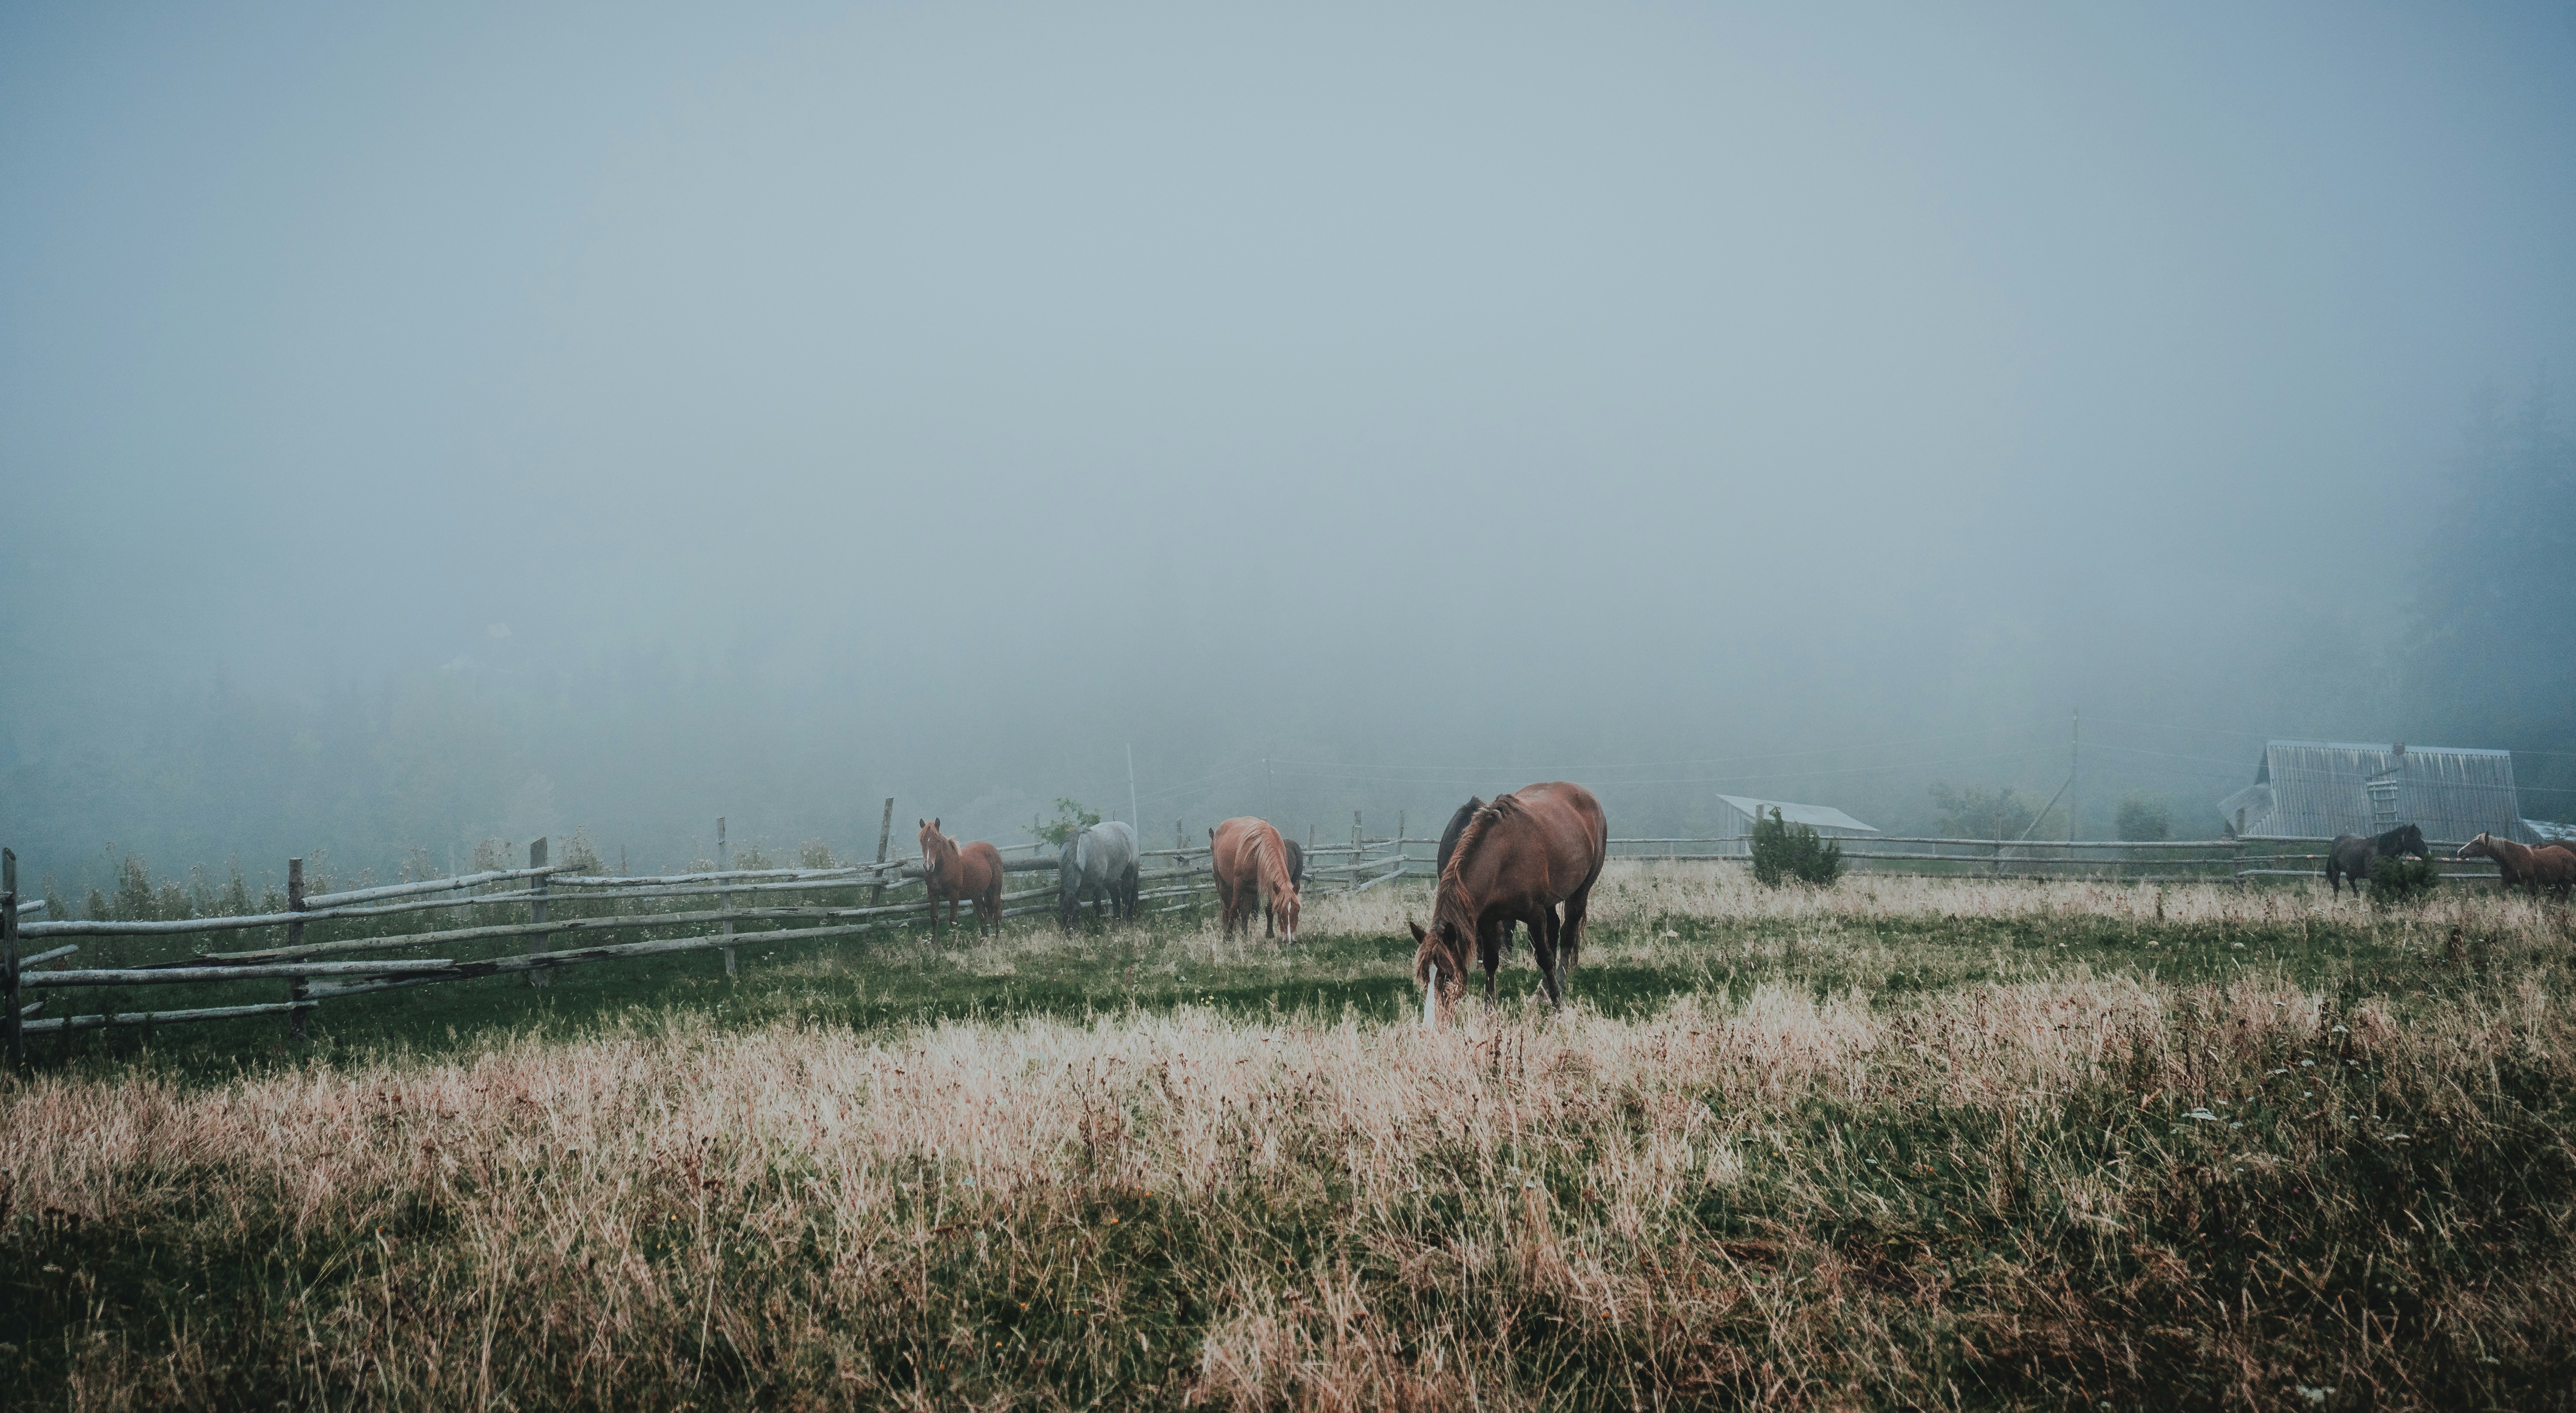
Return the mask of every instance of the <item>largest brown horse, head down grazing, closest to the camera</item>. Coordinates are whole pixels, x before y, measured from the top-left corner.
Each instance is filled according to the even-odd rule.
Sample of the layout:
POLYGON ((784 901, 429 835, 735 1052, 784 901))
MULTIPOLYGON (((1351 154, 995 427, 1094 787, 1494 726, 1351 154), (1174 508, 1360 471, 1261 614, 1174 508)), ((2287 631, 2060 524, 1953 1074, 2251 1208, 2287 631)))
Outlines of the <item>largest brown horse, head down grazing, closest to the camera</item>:
POLYGON ((1484 962, 1484 998, 1512 923, 1530 928, 1530 957, 1548 1003, 1564 1008, 1566 972, 1584 949, 1584 910, 1610 856, 1610 817, 1579 784, 1548 781, 1479 807, 1440 869, 1432 926, 1414 923, 1422 1018, 1448 1016, 1466 995, 1468 946, 1484 962), (1564 902, 1564 918, 1556 905, 1564 902))

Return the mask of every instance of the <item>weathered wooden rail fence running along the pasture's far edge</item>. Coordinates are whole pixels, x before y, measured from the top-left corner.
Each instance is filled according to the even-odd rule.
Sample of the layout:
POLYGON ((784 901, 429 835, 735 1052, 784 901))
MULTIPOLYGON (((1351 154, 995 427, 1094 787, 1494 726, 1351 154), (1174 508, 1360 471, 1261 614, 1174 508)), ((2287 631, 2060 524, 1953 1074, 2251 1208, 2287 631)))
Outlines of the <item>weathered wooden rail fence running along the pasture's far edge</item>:
MULTIPOLYGON (((1350 841, 1324 843, 1314 833, 1306 838, 1306 887, 1355 895, 1435 872, 1437 841, 1414 838, 1396 817, 1394 838, 1368 838, 1358 812, 1350 817, 1350 841)), ((683 951, 724 951, 724 972, 737 972, 742 946, 778 946, 853 939, 884 933, 930 921, 920 861, 889 859, 894 802, 886 802, 878 825, 873 864, 840 864, 829 869, 734 869, 724 841, 724 820, 716 820, 719 866, 690 874, 592 874, 572 864, 549 864, 546 841, 528 846, 526 869, 482 869, 446 879, 417 879, 343 892, 304 892, 304 861, 286 864, 286 910, 252 915, 160 918, 160 921, 85 921, 52 918, 21 921, 41 913, 41 900, 18 902, 18 856, 0 848, 0 1029, 8 1031, 8 1062, 23 1062, 28 1034, 70 1034, 108 1026, 167 1026, 185 1021, 227 1021, 242 1016, 283 1016, 294 1037, 304 1034, 304 1013, 332 998, 368 995, 415 985, 451 980, 526 975, 531 985, 562 967, 595 962, 626 962, 641 957, 672 957, 683 951), (477 892, 487 890, 487 892, 477 892), (848 892, 848 902, 822 902, 811 895, 848 892), (866 900, 860 900, 860 892, 866 900), (788 902, 791 895, 809 895, 788 902), (711 897, 714 908, 649 908, 639 902, 672 902, 683 897, 711 897), (773 902, 775 900, 775 902, 773 902), (471 921, 407 933, 358 933, 307 941, 307 928, 374 923, 404 913, 435 913, 448 908, 518 910, 523 918, 471 921), (577 913, 559 913, 574 908, 577 913), (608 910, 592 910, 608 908, 608 910), (762 923, 757 931, 737 931, 744 923, 762 923), (21 954, 23 941, 62 936, 121 939, 121 936, 204 936, 229 931, 278 928, 276 946, 240 951, 198 951, 185 959, 142 962, 126 967, 70 970, 57 962, 80 951, 80 944, 62 944, 44 951, 21 954), (590 939, 600 933, 631 933, 652 928, 714 928, 693 936, 647 936, 639 941, 598 941, 556 949, 559 939, 590 939), (477 946, 497 941, 523 941, 518 951, 487 957, 371 957, 337 959, 358 951, 415 951, 422 946, 477 946), (283 1000, 250 1006, 196 1006, 178 1011, 103 1011, 93 1016, 39 1016, 44 1000, 26 1000, 31 990, 67 988, 129 988, 129 985, 209 985, 209 982, 286 982, 283 1000)), ((1865 874, 1929 874, 1929 877, 2012 877, 2012 879, 2115 879, 2115 882, 2246 882, 2321 877, 2324 851, 2331 841, 1991 841, 1991 838, 1917 838, 1917 835, 1862 835, 1837 838, 1855 872, 1865 874), (2290 866, 2298 864, 2298 866, 2290 866), (2154 869, 2154 872, 2133 872, 2154 869)), ((1010 874, 1051 872, 1056 859, 1043 853, 1043 843, 1005 848, 1002 869, 1010 874), (1030 853, 1041 851, 1041 853, 1030 853)), ((1613 838, 1613 859, 1638 861, 1747 861, 1749 835, 1723 838, 1613 838)), ((2434 853, 2447 853, 2434 848, 2434 853)), ((1172 848, 1146 848, 1139 902, 1157 902, 1154 913, 1198 908, 1213 895, 1213 877, 1206 869, 1208 846, 1193 843, 1175 823, 1172 848)), ((2447 882, 2494 879, 2486 861, 2437 859, 2447 882)), ((1002 895, 1002 918, 1018 918, 1054 908, 1041 902, 1056 897, 1056 887, 1028 887, 1002 895)), ((935 926, 935 923, 933 923, 935 926)), ((276 993, 270 993, 276 995, 276 993)))

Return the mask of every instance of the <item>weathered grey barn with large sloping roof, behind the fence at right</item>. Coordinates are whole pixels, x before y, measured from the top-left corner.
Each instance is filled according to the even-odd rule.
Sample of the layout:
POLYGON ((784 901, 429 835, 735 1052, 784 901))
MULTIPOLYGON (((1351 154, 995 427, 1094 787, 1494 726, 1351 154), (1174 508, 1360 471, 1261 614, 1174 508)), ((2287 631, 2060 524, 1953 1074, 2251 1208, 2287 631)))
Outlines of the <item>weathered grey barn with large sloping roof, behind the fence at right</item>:
POLYGON ((2416 825, 2429 843, 2481 833, 2535 843, 2514 794, 2512 750, 2272 740, 2254 784, 2218 802, 2239 838, 2331 838, 2416 825))

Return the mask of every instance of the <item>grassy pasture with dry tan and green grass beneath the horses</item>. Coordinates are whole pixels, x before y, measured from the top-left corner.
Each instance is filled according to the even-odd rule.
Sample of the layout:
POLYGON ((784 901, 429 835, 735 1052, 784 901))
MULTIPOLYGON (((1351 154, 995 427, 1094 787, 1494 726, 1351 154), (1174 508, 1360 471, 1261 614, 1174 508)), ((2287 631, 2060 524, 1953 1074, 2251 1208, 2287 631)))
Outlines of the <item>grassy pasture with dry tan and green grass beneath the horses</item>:
POLYGON ((1620 864, 39 1047, 0 1400, 2566 1408, 2558 910, 1620 864))

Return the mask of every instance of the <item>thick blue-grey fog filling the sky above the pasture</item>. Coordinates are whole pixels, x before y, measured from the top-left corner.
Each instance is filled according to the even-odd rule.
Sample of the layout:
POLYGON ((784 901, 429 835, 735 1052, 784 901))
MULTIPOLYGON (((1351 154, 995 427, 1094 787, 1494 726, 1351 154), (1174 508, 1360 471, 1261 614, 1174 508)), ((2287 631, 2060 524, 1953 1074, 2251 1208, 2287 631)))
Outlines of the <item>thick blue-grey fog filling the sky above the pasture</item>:
POLYGON ((0 843, 2576 817, 2571 15, 13 5, 0 843))

